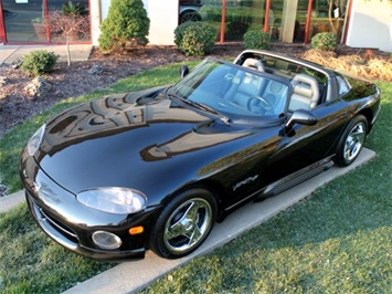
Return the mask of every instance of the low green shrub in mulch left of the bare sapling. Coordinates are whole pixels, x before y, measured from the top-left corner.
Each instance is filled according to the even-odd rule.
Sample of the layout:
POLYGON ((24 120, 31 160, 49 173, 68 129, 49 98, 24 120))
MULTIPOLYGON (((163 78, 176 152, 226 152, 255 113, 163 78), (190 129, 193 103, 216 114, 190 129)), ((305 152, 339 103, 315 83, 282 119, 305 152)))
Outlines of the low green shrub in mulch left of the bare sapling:
POLYGON ((46 50, 34 50, 22 56, 22 70, 28 74, 40 75, 49 73, 56 64, 59 55, 46 50))

